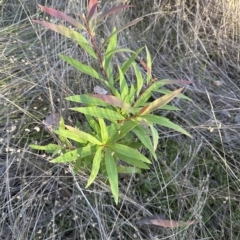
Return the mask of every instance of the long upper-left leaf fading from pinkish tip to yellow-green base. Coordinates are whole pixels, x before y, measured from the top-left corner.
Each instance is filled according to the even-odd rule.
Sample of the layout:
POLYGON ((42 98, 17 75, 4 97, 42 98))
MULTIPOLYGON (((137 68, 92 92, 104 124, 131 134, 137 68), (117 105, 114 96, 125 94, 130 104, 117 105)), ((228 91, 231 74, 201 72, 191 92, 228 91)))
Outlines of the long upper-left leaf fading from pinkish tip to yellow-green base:
POLYGON ((88 52, 93 58, 97 59, 97 55, 94 52, 91 45, 89 45, 88 40, 80 33, 67 28, 62 25, 57 25, 54 23, 46 22, 46 21, 40 21, 40 20, 32 20, 35 23, 41 24, 44 27, 47 27, 54 32, 60 33, 61 35, 70 38, 74 41, 76 41, 86 52, 88 52))

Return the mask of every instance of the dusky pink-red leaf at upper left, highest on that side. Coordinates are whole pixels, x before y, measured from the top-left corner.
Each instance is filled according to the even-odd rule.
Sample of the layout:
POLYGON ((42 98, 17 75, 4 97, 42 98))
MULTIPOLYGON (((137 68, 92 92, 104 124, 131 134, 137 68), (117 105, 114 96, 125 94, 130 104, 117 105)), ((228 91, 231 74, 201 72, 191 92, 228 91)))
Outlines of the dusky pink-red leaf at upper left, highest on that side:
POLYGON ((79 29, 86 30, 86 28, 80 22, 78 22, 76 19, 68 16, 65 13, 58 11, 56 9, 53 9, 53 8, 44 7, 42 5, 38 5, 38 6, 42 9, 42 11, 48 13, 49 15, 56 17, 56 18, 63 19, 79 29))

